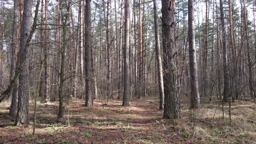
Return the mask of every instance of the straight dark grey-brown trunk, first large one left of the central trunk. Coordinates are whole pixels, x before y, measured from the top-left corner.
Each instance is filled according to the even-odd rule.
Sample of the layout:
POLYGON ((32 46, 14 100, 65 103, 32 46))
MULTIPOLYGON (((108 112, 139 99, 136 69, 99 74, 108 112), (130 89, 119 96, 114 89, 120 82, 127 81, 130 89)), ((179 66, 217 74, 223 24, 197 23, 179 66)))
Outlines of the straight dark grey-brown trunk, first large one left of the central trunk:
POLYGON ((85 106, 93 106, 92 56, 91 56, 91 0, 85 1, 85 106))

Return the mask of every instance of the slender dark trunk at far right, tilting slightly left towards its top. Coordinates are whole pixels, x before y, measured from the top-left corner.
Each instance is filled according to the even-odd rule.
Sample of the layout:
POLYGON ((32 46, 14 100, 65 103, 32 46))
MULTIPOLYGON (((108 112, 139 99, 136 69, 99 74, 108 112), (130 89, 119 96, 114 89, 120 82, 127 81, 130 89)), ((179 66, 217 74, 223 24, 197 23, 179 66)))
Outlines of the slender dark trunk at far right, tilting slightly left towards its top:
POLYGON ((223 2, 220 0, 220 18, 222 26, 222 49, 223 49, 223 76, 224 76, 224 89, 223 89, 223 101, 229 100, 230 84, 229 73, 227 67, 227 50, 226 50, 226 29, 224 22, 223 2))

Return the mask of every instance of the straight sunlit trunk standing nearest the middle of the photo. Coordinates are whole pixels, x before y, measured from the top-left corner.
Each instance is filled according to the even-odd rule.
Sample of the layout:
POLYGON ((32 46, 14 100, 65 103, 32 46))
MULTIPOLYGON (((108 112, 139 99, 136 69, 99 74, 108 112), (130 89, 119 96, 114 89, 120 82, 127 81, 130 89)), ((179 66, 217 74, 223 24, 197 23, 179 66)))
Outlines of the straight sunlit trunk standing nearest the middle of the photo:
POLYGON ((123 49, 124 55, 124 94, 123 94, 123 106, 129 105, 130 97, 130 69, 129 69, 129 32, 130 32, 130 2, 125 0, 125 43, 123 49))

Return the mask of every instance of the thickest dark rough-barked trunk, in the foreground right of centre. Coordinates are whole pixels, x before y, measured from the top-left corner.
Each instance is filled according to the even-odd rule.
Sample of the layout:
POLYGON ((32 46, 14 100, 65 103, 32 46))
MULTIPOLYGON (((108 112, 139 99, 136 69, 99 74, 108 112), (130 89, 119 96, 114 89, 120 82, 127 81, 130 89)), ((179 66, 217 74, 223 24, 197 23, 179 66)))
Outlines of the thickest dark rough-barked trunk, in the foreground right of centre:
POLYGON ((180 94, 177 78, 175 36, 175 0, 162 0, 164 118, 180 118, 180 94))

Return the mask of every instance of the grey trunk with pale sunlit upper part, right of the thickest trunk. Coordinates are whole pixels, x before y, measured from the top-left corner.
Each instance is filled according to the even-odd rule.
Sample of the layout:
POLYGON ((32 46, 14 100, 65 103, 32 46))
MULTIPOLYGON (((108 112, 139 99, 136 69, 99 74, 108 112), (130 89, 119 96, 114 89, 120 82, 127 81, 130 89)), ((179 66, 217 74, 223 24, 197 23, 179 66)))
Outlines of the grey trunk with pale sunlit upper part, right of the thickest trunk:
POLYGON ((200 96, 197 80, 197 58, 195 48, 195 26, 194 26, 194 0, 188 0, 188 48, 189 48, 189 70, 190 70, 190 96, 191 108, 200 108, 200 96))

